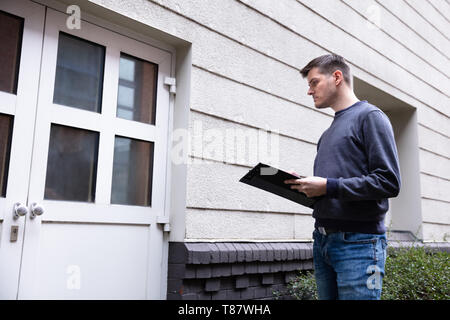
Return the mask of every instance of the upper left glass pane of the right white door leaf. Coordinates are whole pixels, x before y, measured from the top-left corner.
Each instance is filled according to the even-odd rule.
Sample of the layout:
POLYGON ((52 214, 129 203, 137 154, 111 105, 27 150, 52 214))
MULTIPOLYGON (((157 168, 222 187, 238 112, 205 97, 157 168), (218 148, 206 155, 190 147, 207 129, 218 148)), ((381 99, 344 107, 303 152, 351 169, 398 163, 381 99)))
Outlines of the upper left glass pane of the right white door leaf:
POLYGON ((100 112, 105 47, 61 32, 53 102, 100 112))

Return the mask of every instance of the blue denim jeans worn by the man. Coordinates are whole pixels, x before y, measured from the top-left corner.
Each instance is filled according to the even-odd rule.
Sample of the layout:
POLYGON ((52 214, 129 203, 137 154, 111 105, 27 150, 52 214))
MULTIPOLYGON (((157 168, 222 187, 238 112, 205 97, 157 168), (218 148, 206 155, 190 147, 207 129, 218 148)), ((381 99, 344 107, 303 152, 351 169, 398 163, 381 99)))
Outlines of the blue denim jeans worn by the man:
POLYGON ((386 235, 313 232, 314 275, 320 300, 379 300, 386 235))

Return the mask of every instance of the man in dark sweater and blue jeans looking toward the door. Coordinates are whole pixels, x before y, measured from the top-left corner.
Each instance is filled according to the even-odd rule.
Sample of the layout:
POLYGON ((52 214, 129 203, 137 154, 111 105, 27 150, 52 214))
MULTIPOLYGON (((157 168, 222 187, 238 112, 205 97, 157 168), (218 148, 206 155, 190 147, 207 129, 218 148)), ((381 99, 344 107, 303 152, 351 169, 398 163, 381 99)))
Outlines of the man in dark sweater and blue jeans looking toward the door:
POLYGON ((335 112, 317 144, 314 176, 286 180, 314 205, 314 273, 319 299, 380 299, 386 259, 384 217, 400 191, 387 116, 359 101, 345 60, 328 54, 301 71, 318 109, 335 112))

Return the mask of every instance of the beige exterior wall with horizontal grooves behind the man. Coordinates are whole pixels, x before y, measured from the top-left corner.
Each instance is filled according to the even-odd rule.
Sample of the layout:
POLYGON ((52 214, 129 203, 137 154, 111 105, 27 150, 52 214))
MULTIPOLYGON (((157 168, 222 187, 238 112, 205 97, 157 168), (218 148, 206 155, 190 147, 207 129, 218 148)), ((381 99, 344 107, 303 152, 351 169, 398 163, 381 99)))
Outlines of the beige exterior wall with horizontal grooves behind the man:
POLYGON ((449 241, 447 0, 91 2, 192 43, 186 210, 171 218, 185 225, 175 239, 311 238, 311 210, 238 180, 259 161, 312 174, 333 112, 315 110, 299 70, 335 52, 356 77, 417 110, 422 236, 449 241), (255 144, 247 159, 227 154, 227 130, 278 132, 279 157, 255 144))

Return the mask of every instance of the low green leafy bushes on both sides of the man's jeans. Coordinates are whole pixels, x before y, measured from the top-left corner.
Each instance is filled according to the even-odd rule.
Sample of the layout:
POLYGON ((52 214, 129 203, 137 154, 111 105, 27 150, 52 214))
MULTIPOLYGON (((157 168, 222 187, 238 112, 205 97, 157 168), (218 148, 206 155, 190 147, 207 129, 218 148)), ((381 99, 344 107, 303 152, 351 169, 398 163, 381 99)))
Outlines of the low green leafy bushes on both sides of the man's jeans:
MULTIPOLYGON (((317 299, 314 273, 300 273, 288 283, 287 293, 295 299, 317 299)), ((424 247, 389 248, 381 299, 449 300, 450 254, 424 247)))

